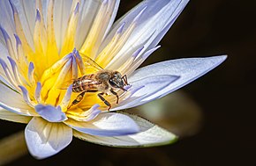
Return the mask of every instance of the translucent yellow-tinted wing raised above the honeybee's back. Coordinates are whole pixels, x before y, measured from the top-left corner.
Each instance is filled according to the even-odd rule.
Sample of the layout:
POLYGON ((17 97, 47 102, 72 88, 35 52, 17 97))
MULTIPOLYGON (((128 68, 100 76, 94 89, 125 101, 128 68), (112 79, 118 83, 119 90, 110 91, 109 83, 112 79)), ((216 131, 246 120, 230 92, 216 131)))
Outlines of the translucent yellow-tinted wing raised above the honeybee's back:
POLYGON ((82 60, 84 62, 87 74, 95 73, 97 71, 102 70, 102 67, 100 65, 98 65, 94 60, 89 58, 87 55, 83 55, 82 60))

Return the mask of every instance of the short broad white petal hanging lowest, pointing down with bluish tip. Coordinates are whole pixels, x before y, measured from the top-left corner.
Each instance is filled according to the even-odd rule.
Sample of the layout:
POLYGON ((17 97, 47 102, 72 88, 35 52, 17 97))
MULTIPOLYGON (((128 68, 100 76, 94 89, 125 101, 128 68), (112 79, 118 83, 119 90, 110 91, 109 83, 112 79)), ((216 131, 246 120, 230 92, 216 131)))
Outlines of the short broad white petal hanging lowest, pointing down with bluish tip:
POLYGON ((72 141, 72 128, 34 117, 26 126, 25 138, 31 155, 43 159, 56 155, 72 141))

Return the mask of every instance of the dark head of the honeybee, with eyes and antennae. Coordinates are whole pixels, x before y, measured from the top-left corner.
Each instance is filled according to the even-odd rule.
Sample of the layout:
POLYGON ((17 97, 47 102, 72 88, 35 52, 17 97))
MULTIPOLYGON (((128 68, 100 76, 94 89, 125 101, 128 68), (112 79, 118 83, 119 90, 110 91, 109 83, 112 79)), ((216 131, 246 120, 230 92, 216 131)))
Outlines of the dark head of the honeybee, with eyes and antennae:
POLYGON ((119 88, 121 90, 124 90, 124 85, 126 85, 127 83, 125 83, 124 76, 122 76, 121 73, 119 73, 118 71, 114 71, 109 79, 109 84, 113 88, 119 88))

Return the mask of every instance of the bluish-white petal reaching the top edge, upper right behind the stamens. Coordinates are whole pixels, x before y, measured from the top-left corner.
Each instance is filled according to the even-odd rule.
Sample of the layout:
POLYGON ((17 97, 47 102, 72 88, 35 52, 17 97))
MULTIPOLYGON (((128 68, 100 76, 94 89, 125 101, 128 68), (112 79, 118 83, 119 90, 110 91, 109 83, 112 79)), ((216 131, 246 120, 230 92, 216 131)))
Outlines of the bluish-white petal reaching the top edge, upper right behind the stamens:
POLYGON ((102 47, 106 46, 109 40, 112 39, 120 25, 125 22, 125 31, 128 25, 132 23, 133 18, 135 18, 141 10, 147 7, 142 13, 141 18, 139 18, 136 28, 132 32, 130 38, 125 42, 124 47, 118 52, 111 63, 115 62, 122 64, 127 60, 127 57, 125 56, 130 56, 127 53, 134 52, 138 47, 144 46, 144 50, 140 54, 155 47, 162 39, 163 35, 169 30, 169 27, 175 22, 181 11, 183 11, 184 6, 188 1, 189 0, 145 0, 134 7, 132 11, 129 11, 124 15, 123 18, 117 20, 117 23, 114 24, 107 39, 102 43, 102 47))

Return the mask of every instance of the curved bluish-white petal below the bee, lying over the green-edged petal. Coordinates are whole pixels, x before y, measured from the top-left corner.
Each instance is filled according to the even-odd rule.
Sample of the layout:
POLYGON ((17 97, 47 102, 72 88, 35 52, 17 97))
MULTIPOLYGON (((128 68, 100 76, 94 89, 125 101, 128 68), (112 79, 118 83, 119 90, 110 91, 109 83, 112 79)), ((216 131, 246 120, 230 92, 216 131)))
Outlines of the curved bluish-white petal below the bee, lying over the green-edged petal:
POLYGON ((68 119, 64 123, 79 132, 92 135, 116 136, 139 132, 139 127, 131 118, 114 112, 101 113, 89 122, 68 119))

